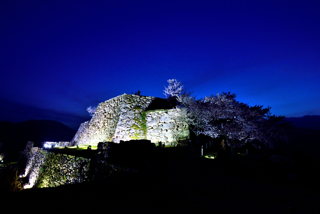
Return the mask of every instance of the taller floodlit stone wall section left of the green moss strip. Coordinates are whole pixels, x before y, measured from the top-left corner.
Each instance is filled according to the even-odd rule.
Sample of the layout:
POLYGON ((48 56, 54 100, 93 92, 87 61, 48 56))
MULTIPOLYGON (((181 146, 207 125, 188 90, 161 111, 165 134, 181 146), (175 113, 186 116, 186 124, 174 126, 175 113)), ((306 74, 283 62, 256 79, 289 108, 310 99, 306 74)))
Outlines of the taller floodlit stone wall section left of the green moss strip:
POLYGON ((148 96, 123 94, 100 103, 86 128, 79 128, 74 145, 98 145, 99 142, 132 140, 124 124, 137 124, 135 117, 139 118, 153 99, 148 96))

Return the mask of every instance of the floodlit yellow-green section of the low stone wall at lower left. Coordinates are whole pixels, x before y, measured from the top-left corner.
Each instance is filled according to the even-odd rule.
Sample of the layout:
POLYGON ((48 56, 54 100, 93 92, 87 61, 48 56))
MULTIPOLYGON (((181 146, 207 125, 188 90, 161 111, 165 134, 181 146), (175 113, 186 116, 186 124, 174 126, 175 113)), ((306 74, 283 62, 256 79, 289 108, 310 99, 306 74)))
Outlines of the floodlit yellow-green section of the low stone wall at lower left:
POLYGON ((90 160, 64 154, 55 154, 42 148, 32 148, 23 175, 29 178, 24 188, 54 187, 82 182, 87 178, 90 160))

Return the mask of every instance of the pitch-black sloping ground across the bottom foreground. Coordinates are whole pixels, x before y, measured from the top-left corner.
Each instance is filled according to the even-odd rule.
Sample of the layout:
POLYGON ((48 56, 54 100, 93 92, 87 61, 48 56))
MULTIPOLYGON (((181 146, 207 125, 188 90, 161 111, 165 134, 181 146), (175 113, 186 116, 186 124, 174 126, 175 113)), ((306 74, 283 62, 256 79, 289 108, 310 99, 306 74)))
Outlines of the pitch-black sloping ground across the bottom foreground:
POLYGON ((255 182, 217 161, 167 152, 143 172, 1 194, 1 213, 320 213, 318 189, 255 182))

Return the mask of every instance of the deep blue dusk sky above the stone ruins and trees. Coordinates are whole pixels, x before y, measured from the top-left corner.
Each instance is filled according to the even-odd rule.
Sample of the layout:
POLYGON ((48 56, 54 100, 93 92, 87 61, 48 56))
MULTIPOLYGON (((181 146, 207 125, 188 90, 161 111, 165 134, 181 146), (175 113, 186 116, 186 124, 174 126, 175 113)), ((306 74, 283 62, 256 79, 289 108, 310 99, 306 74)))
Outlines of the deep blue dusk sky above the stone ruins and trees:
POLYGON ((87 107, 164 98, 172 78, 197 98, 320 115, 319 1, 3 0, 0 39, 0 120, 77 129, 87 107))

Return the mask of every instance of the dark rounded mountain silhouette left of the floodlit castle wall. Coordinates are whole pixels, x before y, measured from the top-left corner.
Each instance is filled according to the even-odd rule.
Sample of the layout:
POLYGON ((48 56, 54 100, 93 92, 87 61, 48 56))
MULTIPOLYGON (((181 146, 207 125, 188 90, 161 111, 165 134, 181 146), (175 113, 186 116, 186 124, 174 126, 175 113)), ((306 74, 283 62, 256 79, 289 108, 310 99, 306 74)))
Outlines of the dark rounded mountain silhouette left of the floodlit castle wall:
POLYGON ((21 123, 0 121, 3 150, 22 151, 28 141, 70 141, 76 131, 54 120, 28 120, 21 123))

